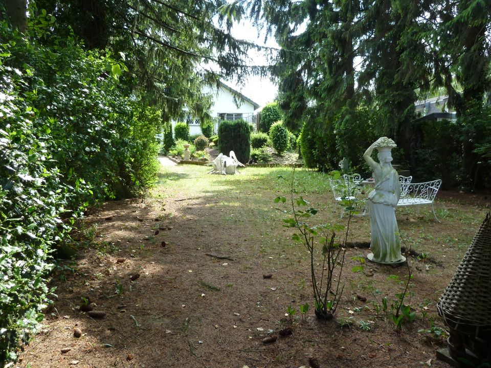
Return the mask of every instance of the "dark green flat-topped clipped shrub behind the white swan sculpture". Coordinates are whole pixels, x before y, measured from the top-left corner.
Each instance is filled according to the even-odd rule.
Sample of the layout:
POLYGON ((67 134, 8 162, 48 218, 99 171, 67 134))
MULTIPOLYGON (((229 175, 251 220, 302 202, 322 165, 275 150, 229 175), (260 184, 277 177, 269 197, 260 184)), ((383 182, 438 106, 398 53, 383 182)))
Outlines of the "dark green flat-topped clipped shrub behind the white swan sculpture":
POLYGON ((234 151, 241 163, 249 161, 251 153, 251 129, 242 119, 222 121, 218 126, 219 151, 228 155, 234 151))

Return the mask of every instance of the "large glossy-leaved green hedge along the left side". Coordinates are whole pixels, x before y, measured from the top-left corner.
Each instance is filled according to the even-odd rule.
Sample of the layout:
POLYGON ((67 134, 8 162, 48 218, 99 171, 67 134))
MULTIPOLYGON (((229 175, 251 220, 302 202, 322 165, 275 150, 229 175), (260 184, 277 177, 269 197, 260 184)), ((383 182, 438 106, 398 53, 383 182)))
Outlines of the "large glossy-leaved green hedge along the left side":
POLYGON ((70 38, 41 45, 2 21, 0 36, 3 366, 42 319, 50 253, 75 219, 98 200, 151 185, 161 113, 125 95, 122 60, 83 51, 70 38))

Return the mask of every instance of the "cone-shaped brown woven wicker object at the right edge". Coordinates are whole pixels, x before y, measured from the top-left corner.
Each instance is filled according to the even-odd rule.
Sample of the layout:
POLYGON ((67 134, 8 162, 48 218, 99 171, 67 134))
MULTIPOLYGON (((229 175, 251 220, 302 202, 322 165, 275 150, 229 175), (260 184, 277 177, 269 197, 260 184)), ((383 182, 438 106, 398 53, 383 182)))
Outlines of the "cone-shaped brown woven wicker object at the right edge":
POLYGON ((455 331, 491 331, 491 215, 488 212, 471 246, 443 292, 438 314, 455 331))

